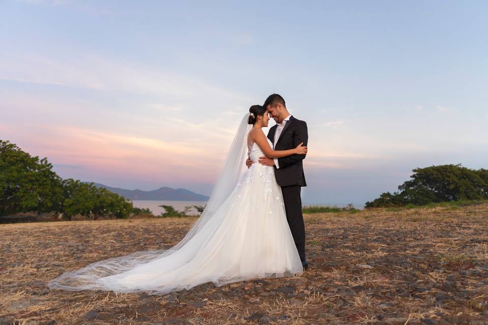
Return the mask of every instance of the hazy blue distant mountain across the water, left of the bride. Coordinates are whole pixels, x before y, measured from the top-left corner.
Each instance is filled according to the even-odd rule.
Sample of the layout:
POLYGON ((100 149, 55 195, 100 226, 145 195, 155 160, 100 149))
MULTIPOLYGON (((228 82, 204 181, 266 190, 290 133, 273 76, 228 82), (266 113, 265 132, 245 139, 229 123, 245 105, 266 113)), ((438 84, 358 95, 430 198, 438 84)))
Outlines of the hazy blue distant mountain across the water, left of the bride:
MULTIPOLYGON (((84 182, 89 183, 89 182, 84 182)), ((103 187, 111 192, 117 193, 126 199, 141 201, 208 201, 208 197, 202 194, 189 191, 185 188, 161 187, 153 191, 143 191, 140 189, 125 189, 110 187, 107 185, 93 183, 97 187, 103 187)))

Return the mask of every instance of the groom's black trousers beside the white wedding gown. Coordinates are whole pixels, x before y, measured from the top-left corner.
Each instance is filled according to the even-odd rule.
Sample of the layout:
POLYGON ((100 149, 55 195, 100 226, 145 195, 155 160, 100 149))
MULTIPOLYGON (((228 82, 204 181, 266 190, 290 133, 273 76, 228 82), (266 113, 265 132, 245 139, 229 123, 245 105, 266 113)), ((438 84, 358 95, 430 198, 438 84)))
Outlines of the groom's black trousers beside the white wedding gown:
POLYGON ((305 224, 301 213, 301 186, 282 186, 283 201, 285 201, 286 219, 290 226, 301 262, 305 261, 305 224))

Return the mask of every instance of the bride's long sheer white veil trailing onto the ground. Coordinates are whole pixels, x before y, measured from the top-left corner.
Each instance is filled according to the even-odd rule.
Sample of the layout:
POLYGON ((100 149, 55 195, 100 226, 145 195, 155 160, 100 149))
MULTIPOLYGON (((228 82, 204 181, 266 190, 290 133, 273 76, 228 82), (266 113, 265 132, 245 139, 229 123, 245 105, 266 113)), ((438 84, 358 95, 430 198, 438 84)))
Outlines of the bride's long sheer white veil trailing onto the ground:
MULTIPOLYGON (((208 200, 202 215, 195 221, 190 231, 178 244, 168 250, 138 251, 129 255, 95 262, 82 269, 64 273, 51 280, 47 286, 51 289, 59 288, 71 291, 97 288, 103 289, 103 287, 97 283, 98 279, 130 271, 148 262, 156 261, 157 259, 173 254, 188 243, 212 218, 212 216, 215 215, 215 212, 229 197, 232 190, 239 182, 239 178, 246 171, 245 160, 248 154, 247 135, 253 126, 252 124, 248 124, 248 118, 249 114, 246 114, 240 122, 232 145, 224 160, 219 178, 217 179, 216 185, 212 190, 210 199, 208 200)), ((153 294, 158 294, 158 291, 155 291, 153 294)))

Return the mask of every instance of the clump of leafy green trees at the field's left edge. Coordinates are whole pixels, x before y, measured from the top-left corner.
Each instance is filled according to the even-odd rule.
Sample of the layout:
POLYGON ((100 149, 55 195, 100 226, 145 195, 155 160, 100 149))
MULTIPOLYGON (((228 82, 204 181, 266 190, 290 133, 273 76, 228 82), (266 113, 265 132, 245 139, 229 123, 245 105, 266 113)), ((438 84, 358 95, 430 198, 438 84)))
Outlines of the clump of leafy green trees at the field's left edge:
POLYGON ((0 140, 0 215, 37 211, 62 212, 68 219, 75 214, 125 218, 133 208, 124 197, 93 183, 62 180, 47 158, 0 140))

